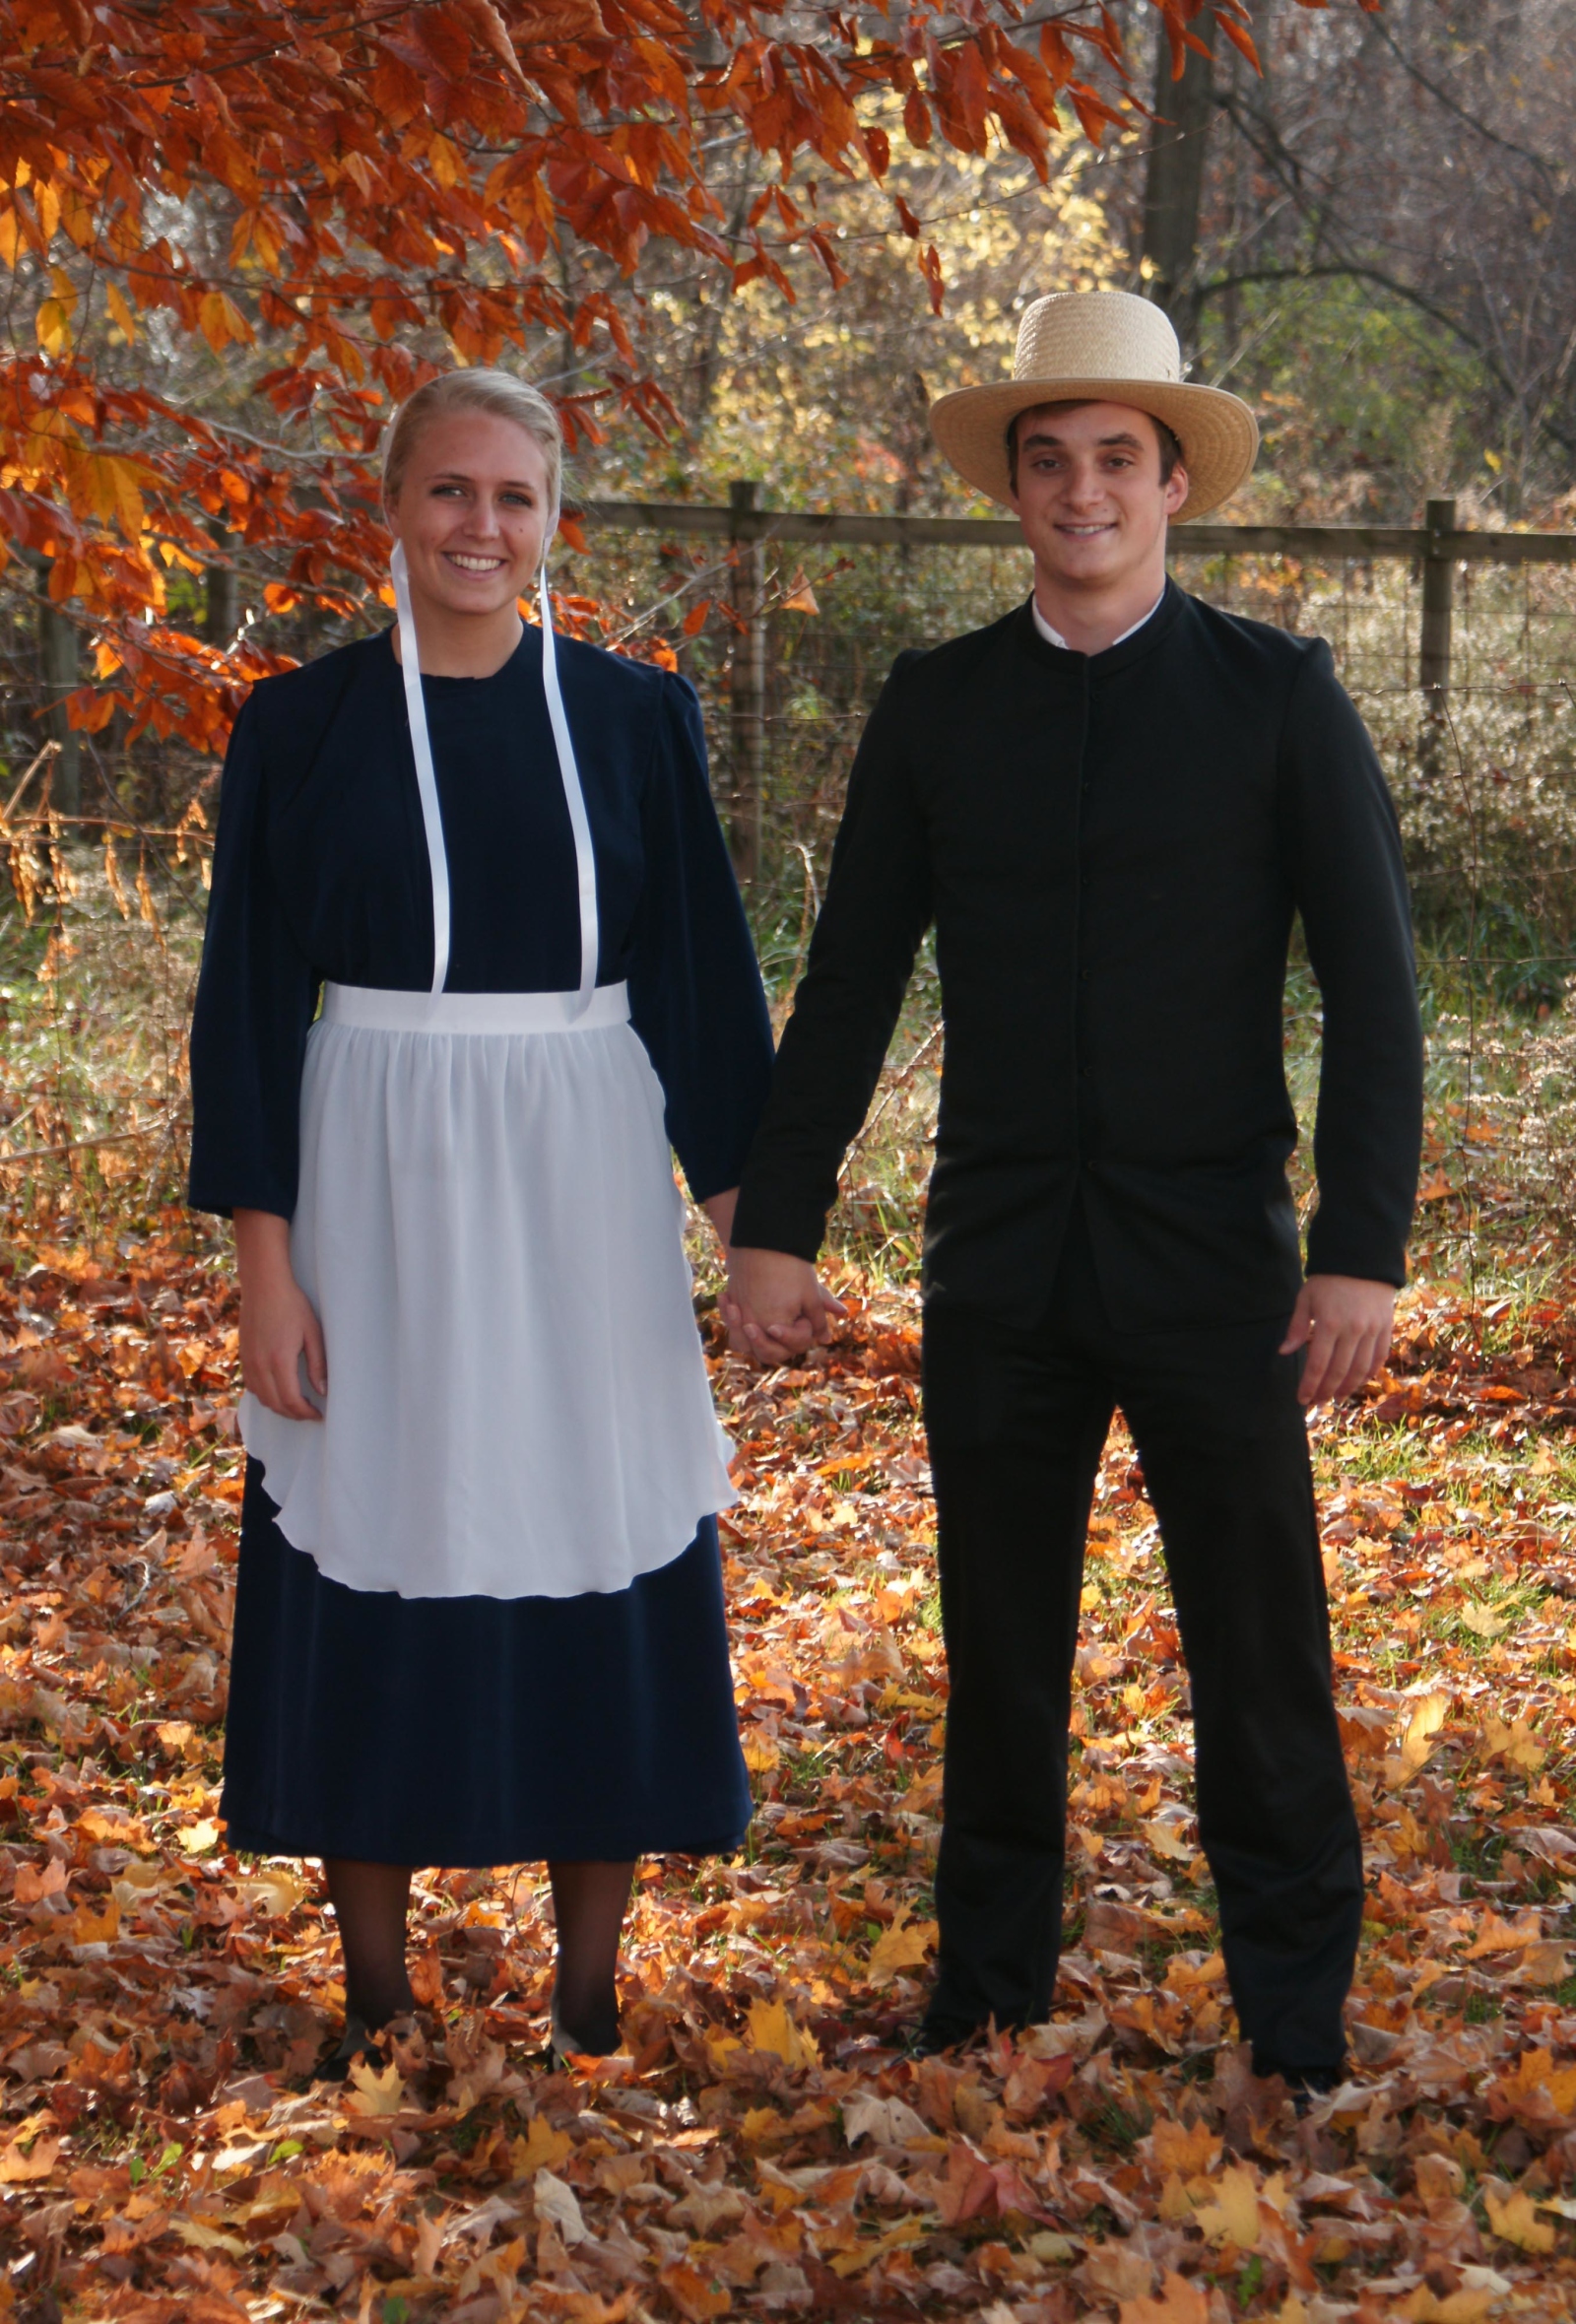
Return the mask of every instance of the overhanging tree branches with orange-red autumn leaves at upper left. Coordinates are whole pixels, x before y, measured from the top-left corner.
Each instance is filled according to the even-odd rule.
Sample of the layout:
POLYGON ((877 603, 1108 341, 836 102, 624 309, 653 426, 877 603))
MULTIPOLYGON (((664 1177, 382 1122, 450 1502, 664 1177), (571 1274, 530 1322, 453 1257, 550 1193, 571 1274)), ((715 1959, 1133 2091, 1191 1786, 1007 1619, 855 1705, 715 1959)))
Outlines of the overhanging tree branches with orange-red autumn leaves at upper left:
MULTIPOLYGON (((895 105, 909 149, 995 142, 1044 174, 1058 123, 1132 119, 1155 9, 1176 58, 1202 19, 1251 53, 1244 0, 2 0, 0 525, 12 586, 91 655, 72 723, 121 709, 214 748, 274 660, 232 637, 235 565, 270 614, 363 604, 377 437, 432 363, 511 349, 572 439, 614 414, 660 432, 630 328, 646 253, 686 251, 718 295, 790 293, 795 251, 837 284, 807 172, 881 186, 895 105), (732 209, 728 125, 760 158, 732 209)), ((893 202, 939 304, 934 239, 893 202)))

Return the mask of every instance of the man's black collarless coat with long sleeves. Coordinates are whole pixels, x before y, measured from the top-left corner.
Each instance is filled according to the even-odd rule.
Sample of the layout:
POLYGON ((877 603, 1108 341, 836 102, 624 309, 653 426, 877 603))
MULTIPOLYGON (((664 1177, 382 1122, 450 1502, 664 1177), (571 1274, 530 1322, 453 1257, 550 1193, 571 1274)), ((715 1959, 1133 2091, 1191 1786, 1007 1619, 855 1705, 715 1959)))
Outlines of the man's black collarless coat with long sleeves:
POLYGON ((1046 644, 1027 602, 900 655, 848 781, 737 1241, 816 1255, 934 923, 927 1294, 1032 1322, 1083 1188, 1127 1325, 1283 1313, 1299 1283, 1295 913, 1325 1013, 1309 1269, 1402 1283, 1423 1127, 1406 876, 1323 639, 1172 583, 1093 658, 1046 644))

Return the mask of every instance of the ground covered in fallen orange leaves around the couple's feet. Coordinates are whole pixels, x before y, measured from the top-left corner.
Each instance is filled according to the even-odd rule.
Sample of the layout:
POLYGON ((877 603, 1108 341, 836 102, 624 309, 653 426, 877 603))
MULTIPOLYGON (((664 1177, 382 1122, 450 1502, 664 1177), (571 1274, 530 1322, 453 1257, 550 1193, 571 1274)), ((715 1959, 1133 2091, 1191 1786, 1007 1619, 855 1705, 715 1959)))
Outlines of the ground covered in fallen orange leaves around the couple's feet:
POLYGON ((311 1866, 216 1822, 239 1452, 181 1241, 0 1285, 0 2315, 1476 2324, 1576 2308, 1576 1318, 1411 1294, 1316 1434, 1369 1915, 1351 2080, 1234 2040, 1185 1673, 1120 1441, 1090 1529, 1055 2017, 911 2061, 946 1671, 918 1334, 716 1357, 748 1857, 642 1868, 628 2054, 542 2064, 539 1868, 418 1882, 423 2013, 311 2085, 311 1866))

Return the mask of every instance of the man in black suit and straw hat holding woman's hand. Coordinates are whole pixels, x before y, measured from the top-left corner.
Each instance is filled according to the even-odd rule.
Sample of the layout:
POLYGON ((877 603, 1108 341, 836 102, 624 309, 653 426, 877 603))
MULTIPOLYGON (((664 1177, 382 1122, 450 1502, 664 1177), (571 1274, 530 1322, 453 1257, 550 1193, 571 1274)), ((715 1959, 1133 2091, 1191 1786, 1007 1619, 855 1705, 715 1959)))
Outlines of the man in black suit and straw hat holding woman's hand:
POLYGON ((946 2047, 1044 2020, 1062 1910, 1083 1538, 1116 1406, 1188 1657, 1199 1838, 1253 2064, 1330 2087, 1362 1920, 1304 1406, 1390 1343, 1420 1146, 1395 811, 1330 648, 1165 574, 1167 521, 1253 465, 1146 300, 1023 318, 944 397, 1034 595, 900 655, 744 1171, 728 1318, 828 1336, 814 1257, 920 937, 946 1016, 925 1220, 925 1425, 951 1701, 937 1866, 946 2047), (1302 1281, 1281 1062, 1292 916, 1323 995, 1302 1281))

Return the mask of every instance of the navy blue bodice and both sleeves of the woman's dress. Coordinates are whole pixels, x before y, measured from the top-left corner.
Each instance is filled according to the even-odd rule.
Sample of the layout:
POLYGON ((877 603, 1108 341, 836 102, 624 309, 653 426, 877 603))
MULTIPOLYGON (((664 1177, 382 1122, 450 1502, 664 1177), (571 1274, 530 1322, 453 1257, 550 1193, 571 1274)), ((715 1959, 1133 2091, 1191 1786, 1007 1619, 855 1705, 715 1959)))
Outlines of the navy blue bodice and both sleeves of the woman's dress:
MULTIPOLYGON (((683 679, 558 639, 597 858, 597 983, 667 1099, 695 1199, 737 1185, 772 1071, 751 934, 683 679)), ((421 681, 453 890, 449 992, 579 978, 574 834, 528 627, 490 679, 421 681)), ((235 720, 191 1027, 191 1202, 295 1211, 318 988, 432 981, 432 871, 388 632, 265 679, 235 720)))

